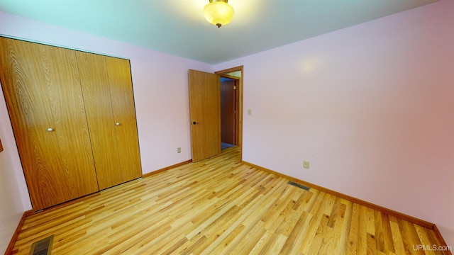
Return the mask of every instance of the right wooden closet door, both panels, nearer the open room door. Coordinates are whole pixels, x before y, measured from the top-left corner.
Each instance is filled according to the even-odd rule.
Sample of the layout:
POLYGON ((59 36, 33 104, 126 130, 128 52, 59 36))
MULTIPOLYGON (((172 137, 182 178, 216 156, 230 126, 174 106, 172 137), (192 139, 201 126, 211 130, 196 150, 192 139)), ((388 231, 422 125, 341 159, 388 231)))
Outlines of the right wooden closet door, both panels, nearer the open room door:
POLYGON ((128 60, 77 52, 100 189, 142 175, 128 60))

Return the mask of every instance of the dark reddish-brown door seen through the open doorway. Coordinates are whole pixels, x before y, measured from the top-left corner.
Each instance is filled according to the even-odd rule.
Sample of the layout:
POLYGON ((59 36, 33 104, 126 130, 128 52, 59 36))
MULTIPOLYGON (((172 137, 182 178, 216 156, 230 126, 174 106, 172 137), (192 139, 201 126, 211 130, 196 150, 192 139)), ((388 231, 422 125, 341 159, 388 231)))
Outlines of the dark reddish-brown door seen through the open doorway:
POLYGON ((221 142, 236 145, 236 80, 221 78, 221 142))

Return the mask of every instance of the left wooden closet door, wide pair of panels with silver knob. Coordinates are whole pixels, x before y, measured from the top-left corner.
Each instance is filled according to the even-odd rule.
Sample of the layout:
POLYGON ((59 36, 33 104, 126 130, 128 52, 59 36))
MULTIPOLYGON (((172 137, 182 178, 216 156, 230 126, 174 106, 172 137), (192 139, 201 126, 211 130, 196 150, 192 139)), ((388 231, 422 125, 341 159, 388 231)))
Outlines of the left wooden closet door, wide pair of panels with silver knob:
POLYGON ((98 191, 73 50, 0 38, 0 80, 33 210, 98 191))

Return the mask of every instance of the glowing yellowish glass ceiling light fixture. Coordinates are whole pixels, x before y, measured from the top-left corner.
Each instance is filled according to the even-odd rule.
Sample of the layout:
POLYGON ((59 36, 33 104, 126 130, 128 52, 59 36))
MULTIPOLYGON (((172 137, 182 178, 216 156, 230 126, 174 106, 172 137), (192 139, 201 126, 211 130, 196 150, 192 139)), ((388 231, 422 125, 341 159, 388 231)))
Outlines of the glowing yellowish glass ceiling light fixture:
POLYGON ((221 28, 233 18, 233 7, 227 4, 228 0, 209 0, 210 3, 204 7, 206 20, 221 28))

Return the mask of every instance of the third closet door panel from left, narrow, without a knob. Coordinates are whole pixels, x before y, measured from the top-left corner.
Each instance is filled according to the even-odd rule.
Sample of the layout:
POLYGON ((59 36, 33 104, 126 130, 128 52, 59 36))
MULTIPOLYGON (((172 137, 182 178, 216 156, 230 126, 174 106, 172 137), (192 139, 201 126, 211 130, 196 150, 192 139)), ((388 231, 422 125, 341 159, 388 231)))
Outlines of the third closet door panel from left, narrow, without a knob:
POLYGON ((89 125, 98 186, 102 190, 123 183, 118 159, 106 57, 76 52, 89 125))

